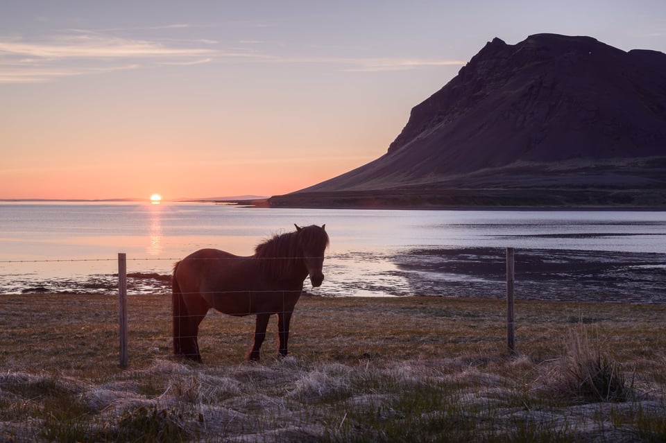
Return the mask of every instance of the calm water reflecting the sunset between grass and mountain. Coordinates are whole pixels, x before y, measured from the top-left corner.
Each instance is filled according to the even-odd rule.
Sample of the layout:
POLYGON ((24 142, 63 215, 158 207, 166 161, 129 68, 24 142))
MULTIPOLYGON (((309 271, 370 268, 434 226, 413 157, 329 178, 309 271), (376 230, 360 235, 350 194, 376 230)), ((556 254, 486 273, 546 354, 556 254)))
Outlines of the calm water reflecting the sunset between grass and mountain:
MULTIPOLYGON (((113 274, 118 252, 127 254, 128 272, 162 276, 130 279, 130 293, 167 292, 173 263, 190 252, 217 247, 250 255, 257 243, 276 232, 290 231, 294 223, 325 223, 330 234, 324 285, 308 288, 319 295, 497 296, 503 288, 504 247, 515 247, 517 257, 524 252, 525 266, 538 261, 569 263, 575 257, 567 265, 570 277, 582 269, 581 263, 613 264, 612 272, 600 271, 606 272, 606 277, 597 276, 601 283, 619 279, 618 272, 626 275, 627 270, 640 270, 634 276, 639 288, 645 286, 640 284, 644 275, 652 272, 651 293, 662 290, 659 281, 666 270, 663 211, 393 211, 258 209, 205 203, 4 202, 0 203, 0 293, 112 293, 117 284, 113 274), (488 263, 493 263, 492 269, 479 267, 488 263)), ((552 281, 562 275, 558 270, 557 275, 550 273, 540 280, 555 287, 552 281)), ((581 281, 582 277, 576 278, 581 281)), ((610 293, 620 290, 615 286, 610 293)), ((538 292, 544 292, 544 287, 541 284, 538 292)), ((646 294, 631 301, 645 297, 655 301, 646 294)))

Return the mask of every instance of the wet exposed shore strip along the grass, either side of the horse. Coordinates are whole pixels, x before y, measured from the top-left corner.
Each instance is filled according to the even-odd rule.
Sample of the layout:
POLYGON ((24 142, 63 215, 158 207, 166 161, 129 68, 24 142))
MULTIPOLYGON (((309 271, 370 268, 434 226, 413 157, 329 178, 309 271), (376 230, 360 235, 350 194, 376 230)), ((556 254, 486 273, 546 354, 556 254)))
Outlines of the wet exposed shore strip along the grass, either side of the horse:
MULTIPOLYGON (((353 254, 352 254, 352 258, 353 254)), ((340 263, 347 254, 330 258, 319 297, 473 297, 506 295, 505 249, 497 247, 410 248, 375 257, 382 268, 369 268, 364 279, 350 278, 340 263), (337 263, 337 264, 336 264, 337 263)), ((39 279, 10 276, 0 293, 117 293, 117 274, 39 279), (11 290, 8 290, 12 288, 11 290)), ((169 294, 171 275, 128 273, 130 295, 169 294)), ((309 292, 306 281, 305 292, 309 292)), ((666 255, 582 250, 515 249, 515 297, 551 301, 666 304, 666 255)))

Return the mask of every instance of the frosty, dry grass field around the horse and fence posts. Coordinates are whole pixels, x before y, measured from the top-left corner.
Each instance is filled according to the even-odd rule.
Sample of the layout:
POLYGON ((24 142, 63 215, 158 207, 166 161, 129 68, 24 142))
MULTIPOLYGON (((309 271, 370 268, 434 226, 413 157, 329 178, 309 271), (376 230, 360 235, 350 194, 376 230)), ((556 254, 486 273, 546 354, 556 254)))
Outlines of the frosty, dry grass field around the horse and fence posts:
POLYGON ((0 296, 0 442, 666 440, 666 306, 304 296, 290 356, 210 313, 171 358, 170 297, 0 296))

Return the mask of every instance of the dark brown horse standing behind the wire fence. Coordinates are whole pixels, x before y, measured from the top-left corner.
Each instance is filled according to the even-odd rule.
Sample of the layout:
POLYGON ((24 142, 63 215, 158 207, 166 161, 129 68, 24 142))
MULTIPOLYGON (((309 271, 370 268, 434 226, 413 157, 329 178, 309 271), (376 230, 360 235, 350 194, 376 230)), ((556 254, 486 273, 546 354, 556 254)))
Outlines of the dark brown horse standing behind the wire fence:
POLYGON ((325 227, 296 226, 296 232, 275 235, 255 254, 239 257, 216 249, 198 250, 173 267, 173 353, 201 361, 199 324, 209 309, 229 315, 257 315, 255 340, 247 358, 259 361, 259 348, 271 315, 278 315, 279 355, 287 355, 293 308, 310 276, 321 286, 328 246, 325 227))

